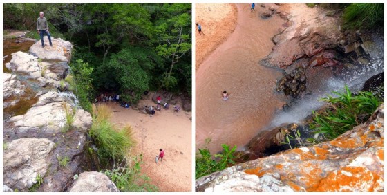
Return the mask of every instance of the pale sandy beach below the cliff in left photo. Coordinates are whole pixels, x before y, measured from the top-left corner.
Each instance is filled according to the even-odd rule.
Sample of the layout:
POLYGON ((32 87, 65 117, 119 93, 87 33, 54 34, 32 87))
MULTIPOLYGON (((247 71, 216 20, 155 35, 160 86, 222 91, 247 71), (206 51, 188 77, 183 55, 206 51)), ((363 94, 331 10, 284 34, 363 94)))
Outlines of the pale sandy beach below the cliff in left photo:
MULTIPOLYGON (((146 100, 140 100, 138 106, 153 105, 149 95, 146 100)), ((178 102, 181 107, 181 102, 178 102)), ((152 117, 142 111, 124 109, 115 102, 109 102, 113 115, 111 122, 117 127, 130 124, 133 127, 134 138, 137 141, 136 154, 143 154, 142 173, 151 178, 151 184, 162 192, 191 191, 191 112, 180 110, 156 111, 152 117), (155 163, 159 149, 165 151, 164 160, 155 163)))

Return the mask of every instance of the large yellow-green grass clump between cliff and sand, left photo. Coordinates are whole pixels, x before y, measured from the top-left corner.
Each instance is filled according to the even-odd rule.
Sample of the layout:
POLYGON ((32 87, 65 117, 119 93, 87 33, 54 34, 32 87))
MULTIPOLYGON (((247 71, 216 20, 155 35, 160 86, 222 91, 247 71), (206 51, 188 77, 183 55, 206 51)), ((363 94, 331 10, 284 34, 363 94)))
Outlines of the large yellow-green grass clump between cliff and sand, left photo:
POLYGON ((89 135, 95 140, 98 156, 106 162, 125 158, 127 151, 135 144, 130 126, 117 129, 109 122, 112 113, 104 104, 93 104, 93 124, 89 135))

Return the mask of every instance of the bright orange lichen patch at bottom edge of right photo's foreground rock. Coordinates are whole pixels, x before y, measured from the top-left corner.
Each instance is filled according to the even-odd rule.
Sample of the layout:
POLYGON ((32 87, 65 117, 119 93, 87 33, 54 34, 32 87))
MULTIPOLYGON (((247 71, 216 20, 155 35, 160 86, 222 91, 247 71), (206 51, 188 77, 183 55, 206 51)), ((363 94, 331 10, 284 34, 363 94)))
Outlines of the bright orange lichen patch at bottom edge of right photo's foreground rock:
POLYGON ((343 167, 339 171, 332 171, 321 180, 319 186, 308 191, 372 191, 374 185, 373 174, 365 167, 343 167))

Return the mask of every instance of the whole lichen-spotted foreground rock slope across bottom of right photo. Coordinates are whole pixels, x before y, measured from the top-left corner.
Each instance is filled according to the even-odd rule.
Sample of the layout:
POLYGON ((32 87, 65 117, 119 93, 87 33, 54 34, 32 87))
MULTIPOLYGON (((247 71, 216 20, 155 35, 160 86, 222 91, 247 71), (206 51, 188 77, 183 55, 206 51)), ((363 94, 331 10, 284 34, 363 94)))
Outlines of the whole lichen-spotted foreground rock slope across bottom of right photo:
POLYGON ((384 105, 338 138, 240 163, 196 180, 196 191, 384 191, 384 105))

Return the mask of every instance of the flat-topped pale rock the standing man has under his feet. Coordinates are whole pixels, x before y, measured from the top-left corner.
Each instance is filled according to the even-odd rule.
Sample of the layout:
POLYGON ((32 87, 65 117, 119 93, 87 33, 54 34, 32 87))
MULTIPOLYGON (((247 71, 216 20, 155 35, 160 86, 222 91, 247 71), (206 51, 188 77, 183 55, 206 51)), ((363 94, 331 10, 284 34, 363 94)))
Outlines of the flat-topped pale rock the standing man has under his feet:
POLYGON ((30 53, 39 57, 39 59, 69 62, 73 45, 61 38, 54 39, 54 37, 51 37, 51 40, 53 41, 53 47, 49 46, 48 37, 44 37, 46 46, 42 48, 41 41, 37 41, 30 47, 30 53))

